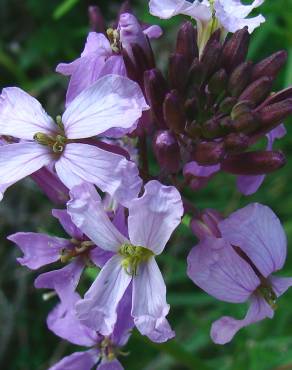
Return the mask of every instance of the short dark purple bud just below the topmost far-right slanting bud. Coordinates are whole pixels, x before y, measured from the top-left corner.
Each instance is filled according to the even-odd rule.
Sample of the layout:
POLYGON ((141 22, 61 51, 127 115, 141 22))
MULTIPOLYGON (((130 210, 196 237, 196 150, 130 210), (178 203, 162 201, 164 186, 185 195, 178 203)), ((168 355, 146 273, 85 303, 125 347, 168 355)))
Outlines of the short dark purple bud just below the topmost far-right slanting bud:
POLYGON ((261 103, 270 93, 273 80, 269 77, 261 77, 250 84, 238 98, 239 101, 249 101, 255 107, 261 103))

